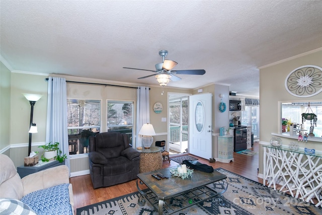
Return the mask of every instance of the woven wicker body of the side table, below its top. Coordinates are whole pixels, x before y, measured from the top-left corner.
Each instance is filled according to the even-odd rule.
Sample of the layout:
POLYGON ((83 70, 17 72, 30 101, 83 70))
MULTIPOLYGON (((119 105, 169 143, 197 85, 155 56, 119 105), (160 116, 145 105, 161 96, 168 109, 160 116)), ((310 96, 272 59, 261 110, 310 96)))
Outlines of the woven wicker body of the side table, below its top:
POLYGON ((140 173, 162 169, 163 158, 161 152, 141 153, 140 173))

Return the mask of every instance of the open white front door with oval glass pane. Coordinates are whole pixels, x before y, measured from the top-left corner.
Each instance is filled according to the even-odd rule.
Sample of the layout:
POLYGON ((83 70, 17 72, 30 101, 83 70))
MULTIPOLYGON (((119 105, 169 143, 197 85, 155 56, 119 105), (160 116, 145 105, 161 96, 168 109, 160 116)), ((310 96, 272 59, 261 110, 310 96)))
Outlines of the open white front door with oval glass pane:
POLYGON ((189 153, 212 158, 211 93, 189 97, 189 153))

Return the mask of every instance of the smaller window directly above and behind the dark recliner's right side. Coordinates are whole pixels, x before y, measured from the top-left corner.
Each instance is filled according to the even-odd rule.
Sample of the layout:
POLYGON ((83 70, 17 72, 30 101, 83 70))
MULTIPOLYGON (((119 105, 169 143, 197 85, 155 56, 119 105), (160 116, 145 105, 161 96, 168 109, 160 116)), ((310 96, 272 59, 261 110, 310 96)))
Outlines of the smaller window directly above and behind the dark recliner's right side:
POLYGON ((107 129, 126 133, 132 146, 133 132, 133 102, 108 101, 107 102, 107 129))

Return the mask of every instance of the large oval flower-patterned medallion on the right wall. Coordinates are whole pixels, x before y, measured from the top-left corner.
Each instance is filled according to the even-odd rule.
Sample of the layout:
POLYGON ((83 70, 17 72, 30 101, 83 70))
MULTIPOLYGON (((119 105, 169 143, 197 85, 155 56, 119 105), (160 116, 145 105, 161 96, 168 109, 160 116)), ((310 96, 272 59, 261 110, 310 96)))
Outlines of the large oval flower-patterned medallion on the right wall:
POLYGON ((293 96, 311 97, 322 92, 322 68, 316 65, 303 65, 285 79, 285 88, 293 96))

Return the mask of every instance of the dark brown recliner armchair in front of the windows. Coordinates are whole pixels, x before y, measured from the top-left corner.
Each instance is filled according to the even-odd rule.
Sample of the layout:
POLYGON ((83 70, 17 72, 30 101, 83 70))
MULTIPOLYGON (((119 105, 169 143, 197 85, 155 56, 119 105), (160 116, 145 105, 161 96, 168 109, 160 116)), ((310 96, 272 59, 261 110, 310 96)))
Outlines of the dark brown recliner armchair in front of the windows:
POLYGON ((128 136, 103 132, 90 136, 90 173, 93 187, 108 187, 137 178, 140 153, 131 148, 128 136))

